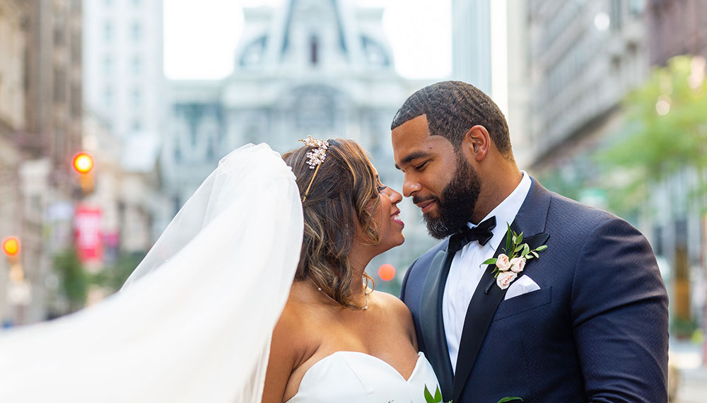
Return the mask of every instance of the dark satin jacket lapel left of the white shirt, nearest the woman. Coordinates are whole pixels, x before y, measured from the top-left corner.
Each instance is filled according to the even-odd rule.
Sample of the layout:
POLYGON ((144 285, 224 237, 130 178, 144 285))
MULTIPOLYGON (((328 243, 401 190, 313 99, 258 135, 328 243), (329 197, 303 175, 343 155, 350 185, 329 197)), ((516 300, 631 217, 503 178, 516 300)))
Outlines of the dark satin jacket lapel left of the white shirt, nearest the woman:
POLYGON ((437 252, 427 272, 420 300, 420 328, 427 358, 437 374, 445 398, 452 392, 453 372, 442 317, 442 296, 453 257, 454 254, 448 254, 446 248, 437 252))

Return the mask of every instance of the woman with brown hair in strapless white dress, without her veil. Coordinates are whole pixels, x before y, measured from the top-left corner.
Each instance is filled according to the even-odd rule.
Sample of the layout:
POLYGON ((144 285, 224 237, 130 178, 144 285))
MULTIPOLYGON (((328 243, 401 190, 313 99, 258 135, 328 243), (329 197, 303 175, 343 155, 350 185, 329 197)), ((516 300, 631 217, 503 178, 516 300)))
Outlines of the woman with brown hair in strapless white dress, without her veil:
POLYGON ((404 242, 401 194, 361 146, 318 141, 284 155, 303 199, 295 281, 271 345, 264 403, 424 402, 437 379, 401 300, 368 287, 376 255, 404 242))

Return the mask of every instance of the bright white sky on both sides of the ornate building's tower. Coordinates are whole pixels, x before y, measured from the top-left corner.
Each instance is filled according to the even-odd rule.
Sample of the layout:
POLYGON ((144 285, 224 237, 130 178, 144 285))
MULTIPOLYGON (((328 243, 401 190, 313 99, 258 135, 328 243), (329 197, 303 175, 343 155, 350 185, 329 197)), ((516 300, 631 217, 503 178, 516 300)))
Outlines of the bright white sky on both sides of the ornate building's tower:
MULTIPOLYGON (((164 0, 165 75, 223 78, 233 69, 243 6, 286 0, 164 0)), ((450 0, 352 0, 382 6, 383 25, 399 74, 445 78, 451 71, 450 0)))

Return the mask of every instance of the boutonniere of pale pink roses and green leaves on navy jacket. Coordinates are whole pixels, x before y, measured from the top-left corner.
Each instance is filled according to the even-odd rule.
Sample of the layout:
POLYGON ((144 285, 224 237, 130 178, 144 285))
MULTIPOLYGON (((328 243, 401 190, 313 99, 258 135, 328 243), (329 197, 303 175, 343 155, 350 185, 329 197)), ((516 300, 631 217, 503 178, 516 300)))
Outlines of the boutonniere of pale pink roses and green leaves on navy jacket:
POLYGON ((537 252, 547 249, 547 245, 541 245, 531 250, 527 243, 522 243, 523 233, 517 234, 510 229, 510 224, 506 223, 506 225, 508 233, 506 233, 506 248, 503 250, 506 253, 486 259, 486 262, 482 263, 496 264, 493 274, 495 274, 496 284, 502 290, 508 288, 510 283, 518 278, 518 274, 525 269, 525 262, 533 258, 537 259, 539 256, 537 252))

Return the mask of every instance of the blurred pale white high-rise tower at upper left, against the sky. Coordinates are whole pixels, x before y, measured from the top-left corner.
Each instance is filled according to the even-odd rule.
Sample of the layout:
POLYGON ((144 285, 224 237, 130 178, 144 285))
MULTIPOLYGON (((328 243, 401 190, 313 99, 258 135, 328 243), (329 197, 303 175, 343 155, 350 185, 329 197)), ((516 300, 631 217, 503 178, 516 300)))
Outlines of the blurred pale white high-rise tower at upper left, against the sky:
POLYGON ((162 0, 84 0, 86 106, 122 141, 165 120, 162 0))

